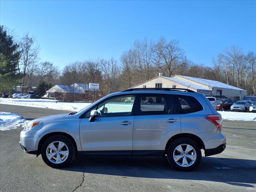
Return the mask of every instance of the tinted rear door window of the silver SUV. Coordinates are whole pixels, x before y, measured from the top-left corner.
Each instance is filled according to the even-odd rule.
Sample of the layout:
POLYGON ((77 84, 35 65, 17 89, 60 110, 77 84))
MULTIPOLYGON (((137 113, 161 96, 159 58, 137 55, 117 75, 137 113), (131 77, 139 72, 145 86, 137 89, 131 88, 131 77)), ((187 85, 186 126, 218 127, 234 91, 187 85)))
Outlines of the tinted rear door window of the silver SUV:
POLYGON ((165 95, 142 95, 140 98, 139 115, 171 114, 172 104, 165 95))

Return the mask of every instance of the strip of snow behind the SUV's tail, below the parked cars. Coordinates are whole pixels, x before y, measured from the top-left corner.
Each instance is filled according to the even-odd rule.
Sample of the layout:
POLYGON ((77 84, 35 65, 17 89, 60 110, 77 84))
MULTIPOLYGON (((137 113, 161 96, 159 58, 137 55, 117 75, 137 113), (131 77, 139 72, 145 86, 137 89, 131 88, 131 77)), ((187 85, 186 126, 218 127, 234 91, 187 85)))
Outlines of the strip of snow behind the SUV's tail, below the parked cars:
POLYGON ((256 113, 218 111, 223 120, 256 121, 256 113))

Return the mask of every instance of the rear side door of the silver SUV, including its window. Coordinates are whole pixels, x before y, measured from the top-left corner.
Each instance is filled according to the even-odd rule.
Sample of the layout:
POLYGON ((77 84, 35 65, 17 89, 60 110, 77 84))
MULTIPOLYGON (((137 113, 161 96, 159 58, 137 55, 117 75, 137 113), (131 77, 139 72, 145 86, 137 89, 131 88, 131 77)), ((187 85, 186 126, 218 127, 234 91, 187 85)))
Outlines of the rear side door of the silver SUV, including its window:
POLYGON ((170 95, 140 94, 133 128, 133 154, 163 154, 169 138, 180 133, 170 95))

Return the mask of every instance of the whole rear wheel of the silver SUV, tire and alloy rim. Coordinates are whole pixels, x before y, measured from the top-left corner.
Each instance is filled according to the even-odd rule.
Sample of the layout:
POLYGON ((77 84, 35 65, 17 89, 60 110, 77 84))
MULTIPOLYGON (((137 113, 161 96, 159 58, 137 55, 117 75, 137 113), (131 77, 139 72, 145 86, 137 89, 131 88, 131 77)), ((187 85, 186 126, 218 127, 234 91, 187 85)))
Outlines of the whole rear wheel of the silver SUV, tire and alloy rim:
POLYGON ((187 138, 174 141, 168 148, 168 162, 179 171, 190 171, 198 166, 202 153, 196 142, 187 138))

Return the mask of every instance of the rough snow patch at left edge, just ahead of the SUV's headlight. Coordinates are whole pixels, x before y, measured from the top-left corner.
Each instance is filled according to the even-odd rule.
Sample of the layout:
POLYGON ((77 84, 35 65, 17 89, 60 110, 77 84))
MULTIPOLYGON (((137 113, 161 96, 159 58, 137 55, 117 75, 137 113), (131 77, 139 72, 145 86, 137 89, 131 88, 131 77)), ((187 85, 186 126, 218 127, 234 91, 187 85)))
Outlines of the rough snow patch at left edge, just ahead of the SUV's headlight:
POLYGON ((24 127, 26 122, 27 120, 18 114, 0 112, 0 130, 2 131, 24 127))

